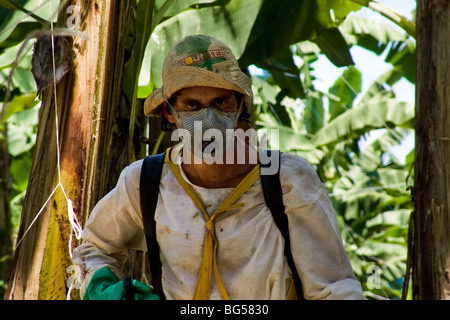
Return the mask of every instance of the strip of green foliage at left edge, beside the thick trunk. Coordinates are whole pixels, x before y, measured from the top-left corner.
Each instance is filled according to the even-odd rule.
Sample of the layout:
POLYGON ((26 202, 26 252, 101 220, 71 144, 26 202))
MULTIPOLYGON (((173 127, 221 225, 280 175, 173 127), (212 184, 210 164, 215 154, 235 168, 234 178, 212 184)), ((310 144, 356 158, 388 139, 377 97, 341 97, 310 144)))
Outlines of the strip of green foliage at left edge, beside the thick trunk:
MULTIPOLYGON (((9 176, 0 177, 0 181, 6 181, 1 185, 1 188, 4 188, 2 195, 9 197, 9 210, 2 212, 1 215, 9 217, 9 221, 0 222, 2 225, 0 296, 2 297, 6 289, 5 276, 9 272, 13 251, 7 246, 14 243, 19 228, 37 130, 36 85, 30 72, 30 46, 24 40, 30 32, 42 28, 43 25, 42 21, 37 22, 35 18, 29 18, 29 20, 26 18, 23 12, 27 10, 22 7, 25 2, 0 2, 0 142, 2 142, 0 154, 2 154, 3 165, 5 165, 6 157, 9 157, 6 161, 9 163, 9 176), (13 10, 1 7, 9 4, 15 5, 13 10), (3 148, 5 140, 7 147, 3 148)), ((2 168, 1 172, 5 172, 5 168, 2 168)), ((1 199, 1 201, 7 200, 1 199)))

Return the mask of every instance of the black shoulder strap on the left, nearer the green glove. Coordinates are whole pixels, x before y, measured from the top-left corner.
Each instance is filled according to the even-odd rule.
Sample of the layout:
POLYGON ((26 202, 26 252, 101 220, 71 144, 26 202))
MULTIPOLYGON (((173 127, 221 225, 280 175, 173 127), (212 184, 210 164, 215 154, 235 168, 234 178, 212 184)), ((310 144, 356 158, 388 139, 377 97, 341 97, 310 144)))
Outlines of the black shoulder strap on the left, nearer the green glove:
POLYGON ((156 240, 155 210, 159 195, 159 182, 164 164, 165 153, 145 157, 140 179, 140 198, 145 240, 147 241, 148 259, 152 275, 153 292, 164 300, 161 283, 161 260, 156 240))

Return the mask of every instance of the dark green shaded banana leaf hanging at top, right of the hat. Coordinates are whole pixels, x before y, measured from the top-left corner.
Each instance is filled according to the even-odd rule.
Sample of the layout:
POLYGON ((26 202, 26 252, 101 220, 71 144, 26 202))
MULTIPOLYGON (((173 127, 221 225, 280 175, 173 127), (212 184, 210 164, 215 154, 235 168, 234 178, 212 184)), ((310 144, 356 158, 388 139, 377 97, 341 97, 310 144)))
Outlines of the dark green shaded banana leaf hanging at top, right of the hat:
MULTIPOLYGON (((347 0, 265 1, 252 27, 246 50, 240 58, 240 62, 242 65, 249 65, 276 55, 290 44, 303 40, 320 39, 320 36, 327 30, 339 26, 349 12, 360 8, 360 4, 347 0)), ((336 32, 338 31, 335 31, 334 35, 336 32)), ((328 36, 325 34, 324 41, 319 41, 319 43, 325 45, 329 36, 331 34, 328 36)), ((339 46, 335 50, 339 50, 341 58, 345 57, 344 64, 351 64, 344 39, 342 38, 338 44, 339 46), (346 53, 343 54, 342 50, 346 53)), ((327 48, 331 50, 330 47, 327 48)), ((333 55, 330 60, 338 61, 339 59, 333 55)))

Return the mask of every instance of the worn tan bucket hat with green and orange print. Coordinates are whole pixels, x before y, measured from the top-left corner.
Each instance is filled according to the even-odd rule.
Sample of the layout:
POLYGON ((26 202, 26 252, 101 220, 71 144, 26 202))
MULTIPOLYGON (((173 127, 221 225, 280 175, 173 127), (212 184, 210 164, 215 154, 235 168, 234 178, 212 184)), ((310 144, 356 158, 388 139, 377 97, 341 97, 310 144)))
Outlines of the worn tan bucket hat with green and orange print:
POLYGON ((156 109, 175 92, 188 87, 207 86, 242 93, 251 101, 250 78, 242 72, 231 49, 222 41, 205 35, 191 35, 177 42, 164 60, 162 88, 154 90, 144 103, 146 116, 158 116, 156 109))

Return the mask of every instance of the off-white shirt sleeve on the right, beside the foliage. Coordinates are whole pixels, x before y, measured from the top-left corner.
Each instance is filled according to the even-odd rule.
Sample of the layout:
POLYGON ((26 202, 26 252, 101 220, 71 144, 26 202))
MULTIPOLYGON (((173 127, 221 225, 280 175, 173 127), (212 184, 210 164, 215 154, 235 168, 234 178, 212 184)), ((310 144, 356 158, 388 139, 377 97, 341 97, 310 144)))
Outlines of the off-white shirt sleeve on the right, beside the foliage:
POLYGON ((307 299, 364 299, 348 260, 336 213, 314 168, 282 154, 280 179, 291 250, 307 299))

